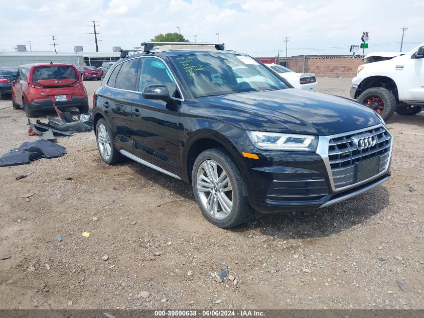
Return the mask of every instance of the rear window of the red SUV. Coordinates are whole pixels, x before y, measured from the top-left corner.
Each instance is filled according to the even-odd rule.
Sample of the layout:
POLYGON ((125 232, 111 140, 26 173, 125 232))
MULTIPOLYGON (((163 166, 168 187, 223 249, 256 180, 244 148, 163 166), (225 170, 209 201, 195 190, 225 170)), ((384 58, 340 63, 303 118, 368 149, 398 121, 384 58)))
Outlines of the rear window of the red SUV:
POLYGON ((78 81, 75 69, 70 66, 42 66, 34 68, 33 82, 41 85, 50 85, 52 80, 61 80, 64 85, 78 81))

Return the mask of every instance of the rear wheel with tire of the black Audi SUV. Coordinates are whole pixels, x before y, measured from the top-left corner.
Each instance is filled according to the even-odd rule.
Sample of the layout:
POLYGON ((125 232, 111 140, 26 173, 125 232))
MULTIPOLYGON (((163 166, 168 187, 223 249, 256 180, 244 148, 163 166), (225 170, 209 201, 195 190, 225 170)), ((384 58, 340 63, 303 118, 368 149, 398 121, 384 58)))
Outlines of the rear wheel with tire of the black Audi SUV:
POLYGON ((115 147, 112 132, 104 119, 99 119, 96 125, 96 142, 100 157, 107 164, 122 161, 123 156, 115 147))

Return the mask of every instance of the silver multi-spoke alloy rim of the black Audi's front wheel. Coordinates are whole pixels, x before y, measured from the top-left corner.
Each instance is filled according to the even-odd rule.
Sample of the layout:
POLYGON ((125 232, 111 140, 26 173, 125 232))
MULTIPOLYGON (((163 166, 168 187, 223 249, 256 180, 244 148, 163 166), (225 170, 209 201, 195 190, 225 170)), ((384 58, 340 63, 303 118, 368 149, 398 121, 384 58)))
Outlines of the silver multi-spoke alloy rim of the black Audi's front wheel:
POLYGON ((233 188, 227 172, 214 160, 205 160, 197 170, 197 193, 214 219, 227 218, 233 206, 233 188))

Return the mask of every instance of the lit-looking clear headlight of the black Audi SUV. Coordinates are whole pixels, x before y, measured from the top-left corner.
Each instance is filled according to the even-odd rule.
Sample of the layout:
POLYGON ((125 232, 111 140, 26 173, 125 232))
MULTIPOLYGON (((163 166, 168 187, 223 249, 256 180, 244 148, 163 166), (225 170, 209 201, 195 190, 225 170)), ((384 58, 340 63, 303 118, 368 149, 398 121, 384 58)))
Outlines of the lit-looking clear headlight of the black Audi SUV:
POLYGON ((317 136, 254 131, 247 131, 247 136, 262 150, 316 151, 318 145, 317 136))

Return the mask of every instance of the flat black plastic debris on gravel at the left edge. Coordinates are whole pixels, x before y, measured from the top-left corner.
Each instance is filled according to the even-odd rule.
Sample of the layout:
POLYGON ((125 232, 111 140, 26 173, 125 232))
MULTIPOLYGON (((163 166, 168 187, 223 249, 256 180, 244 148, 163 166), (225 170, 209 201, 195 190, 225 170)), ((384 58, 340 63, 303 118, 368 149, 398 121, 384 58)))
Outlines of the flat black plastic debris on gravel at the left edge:
POLYGON ((62 157, 65 154, 65 147, 49 140, 26 141, 0 157, 0 167, 27 164, 40 158, 62 157))

